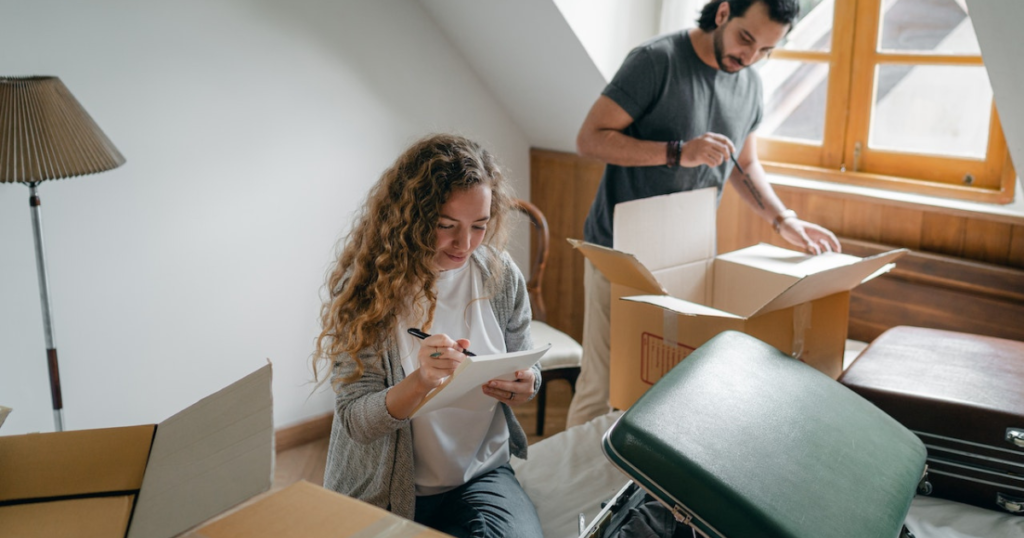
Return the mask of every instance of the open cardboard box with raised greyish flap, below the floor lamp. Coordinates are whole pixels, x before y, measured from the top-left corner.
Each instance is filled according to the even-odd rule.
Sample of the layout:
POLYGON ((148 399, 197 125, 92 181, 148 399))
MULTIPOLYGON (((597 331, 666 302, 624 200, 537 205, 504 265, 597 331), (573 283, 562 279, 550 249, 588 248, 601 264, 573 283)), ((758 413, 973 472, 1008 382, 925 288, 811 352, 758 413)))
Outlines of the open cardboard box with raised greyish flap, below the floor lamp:
POLYGON ((0 536, 166 538, 270 488, 270 365, 160 424, 0 437, 0 536))

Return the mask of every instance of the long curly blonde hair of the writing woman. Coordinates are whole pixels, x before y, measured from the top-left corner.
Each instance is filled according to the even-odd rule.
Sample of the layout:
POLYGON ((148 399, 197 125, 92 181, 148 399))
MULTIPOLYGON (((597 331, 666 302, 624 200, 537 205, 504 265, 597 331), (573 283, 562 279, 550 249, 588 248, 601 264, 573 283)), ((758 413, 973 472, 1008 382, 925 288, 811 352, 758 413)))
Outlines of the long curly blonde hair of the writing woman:
POLYGON ((340 381, 361 377, 358 351, 371 348, 382 359, 398 320, 425 314, 424 328, 430 327, 437 299, 434 256, 441 206, 452 193, 476 185, 490 189, 490 220, 480 247, 495 277, 489 283, 497 285, 513 199, 494 156, 462 136, 435 134, 414 143, 384 171, 327 279, 330 294, 321 308, 323 330, 312 357, 317 385, 345 360, 353 361, 354 369, 340 381), (423 304, 427 312, 414 312, 423 304))

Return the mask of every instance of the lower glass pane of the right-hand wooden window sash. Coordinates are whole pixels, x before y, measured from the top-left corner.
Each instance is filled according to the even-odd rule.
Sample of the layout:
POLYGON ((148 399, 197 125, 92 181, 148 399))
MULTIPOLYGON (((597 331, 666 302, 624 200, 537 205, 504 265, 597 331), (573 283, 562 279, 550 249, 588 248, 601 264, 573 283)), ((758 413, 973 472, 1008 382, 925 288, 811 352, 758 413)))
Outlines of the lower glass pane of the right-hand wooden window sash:
POLYGON ((880 66, 868 144, 983 159, 992 87, 983 67, 880 66))

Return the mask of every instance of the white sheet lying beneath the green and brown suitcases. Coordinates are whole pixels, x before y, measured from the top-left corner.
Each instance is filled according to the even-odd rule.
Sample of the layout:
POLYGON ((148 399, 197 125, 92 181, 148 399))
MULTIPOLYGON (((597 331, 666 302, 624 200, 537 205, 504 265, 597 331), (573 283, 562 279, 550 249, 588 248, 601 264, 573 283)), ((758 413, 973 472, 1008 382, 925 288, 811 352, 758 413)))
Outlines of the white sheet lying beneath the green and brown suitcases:
MULTIPOLYGON (((580 512, 590 523, 629 480, 601 451, 601 437, 621 414, 543 440, 529 447, 526 461, 512 458, 546 538, 577 537, 580 512)), ((906 521, 918 538, 1024 538, 1024 516, 931 497, 916 497, 906 521)))

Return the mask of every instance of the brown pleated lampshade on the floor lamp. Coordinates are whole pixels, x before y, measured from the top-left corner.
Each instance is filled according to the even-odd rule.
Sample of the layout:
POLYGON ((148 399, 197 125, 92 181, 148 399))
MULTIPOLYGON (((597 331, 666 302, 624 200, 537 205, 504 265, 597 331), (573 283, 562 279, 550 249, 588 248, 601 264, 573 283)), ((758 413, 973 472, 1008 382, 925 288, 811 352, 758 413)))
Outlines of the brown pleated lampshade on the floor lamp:
POLYGON ((0 183, 102 172, 125 158, 56 77, 0 77, 0 183))

